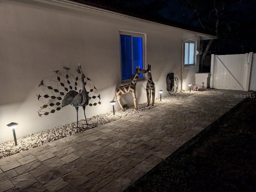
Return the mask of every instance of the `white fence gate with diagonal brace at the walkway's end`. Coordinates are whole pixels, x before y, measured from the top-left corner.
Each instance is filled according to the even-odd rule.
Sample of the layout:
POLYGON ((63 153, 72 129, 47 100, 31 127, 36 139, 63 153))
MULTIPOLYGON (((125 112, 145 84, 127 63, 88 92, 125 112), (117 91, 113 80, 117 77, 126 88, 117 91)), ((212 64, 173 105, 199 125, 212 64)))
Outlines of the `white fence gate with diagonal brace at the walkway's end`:
POLYGON ((212 55, 210 87, 248 91, 249 85, 252 87, 254 85, 255 90, 256 66, 254 64, 252 67, 253 55, 256 56, 253 53, 212 55), (253 75, 251 75, 251 68, 254 70, 253 75))

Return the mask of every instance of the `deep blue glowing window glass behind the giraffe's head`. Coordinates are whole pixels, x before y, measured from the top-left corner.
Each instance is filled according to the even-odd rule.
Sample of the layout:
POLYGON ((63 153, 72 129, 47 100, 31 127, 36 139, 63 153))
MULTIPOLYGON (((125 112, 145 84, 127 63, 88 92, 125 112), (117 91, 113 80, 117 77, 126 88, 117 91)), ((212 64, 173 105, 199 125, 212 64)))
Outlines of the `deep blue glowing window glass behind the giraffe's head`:
MULTIPOLYGON (((122 80, 130 79, 136 67, 143 69, 143 37, 120 35, 122 80)), ((140 74, 139 78, 143 78, 140 74)))

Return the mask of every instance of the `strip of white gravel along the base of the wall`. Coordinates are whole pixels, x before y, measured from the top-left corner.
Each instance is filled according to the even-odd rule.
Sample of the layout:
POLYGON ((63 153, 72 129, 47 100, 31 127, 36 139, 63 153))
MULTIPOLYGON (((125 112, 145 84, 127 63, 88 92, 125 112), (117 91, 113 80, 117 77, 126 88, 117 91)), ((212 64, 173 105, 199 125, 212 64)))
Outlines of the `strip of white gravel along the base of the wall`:
MULTIPOLYGON (((85 120, 80 120, 78 121, 78 127, 80 129, 76 129, 76 121, 71 124, 66 124, 66 125, 61 125, 58 127, 55 127, 50 130, 46 131, 40 131, 39 133, 28 135, 26 137, 21 137, 17 139, 18 145, 14 145, 14 141, 8 141, 5 143, 0 144, 0 159, 7 157, 9 155, 13 155, 15 153, 20 153, 22 151, 26 151, 32 147, 37 147, 40 145, 43 145, 45 143, 55 141, 57 139, 67 137, 69 135, 73 135, 75 133, 79 133, 82 131, 85 131, 86 129, 91 129, 93 127, 97 127, 99 125, 103 125, 105 123, 109 123, 111 121, 118 120, 120 118, 124 118, 139 112, 143 112, 145 110, 148 110, 150 108, 154 108, 156 106, 160 106, 162 104, 166 104, 178 99, 185 98, 187 96, 190 96, 192 94, 196 94, 197 91, 184 91, 184 92, 179 92, 173 95, 169 95, 167 97, 163 97, 162 101, 160 102, 160 99, 156 99, 154 106, 148 106, 147 103, 143 104, 138 104, 137 108, 138 110, 134 109, 134 106, 129 106, 128 108, 125 108, 125 111, 123 112, 122 110, 116 110, 115 115, 113 116, 113 112, 108 112, 106 114, 101 114, 97 116, 93 116, 91 118, 88 118, 88 124, 92 125, 92 127, 88 126, 86 128, 86 121, 85 120)), ((116 104, 118 105, 118 103, 116 104)))

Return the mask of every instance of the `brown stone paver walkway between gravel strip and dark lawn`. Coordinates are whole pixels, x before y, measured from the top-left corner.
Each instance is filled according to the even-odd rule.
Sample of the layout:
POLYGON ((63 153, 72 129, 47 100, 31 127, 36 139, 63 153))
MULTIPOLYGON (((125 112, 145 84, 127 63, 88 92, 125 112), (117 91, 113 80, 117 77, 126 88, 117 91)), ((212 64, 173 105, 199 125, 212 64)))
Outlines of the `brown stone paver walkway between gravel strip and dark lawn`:
POLYGON ((5 157, 0 191, 123 191, 246 94, 201 92, 5 157))

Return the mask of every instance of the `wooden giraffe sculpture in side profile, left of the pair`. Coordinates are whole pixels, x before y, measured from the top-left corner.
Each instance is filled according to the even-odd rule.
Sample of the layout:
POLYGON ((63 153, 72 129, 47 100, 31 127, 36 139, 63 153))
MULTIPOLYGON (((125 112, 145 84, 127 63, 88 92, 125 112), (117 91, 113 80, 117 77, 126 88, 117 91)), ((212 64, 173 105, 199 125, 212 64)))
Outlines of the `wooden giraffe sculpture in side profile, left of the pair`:
POLYGON ((123 85, 123 86, 120 86, 120 87, 116 88, 116 91, 115 91, 116 95, 114 96, 113 100, 116 97, 122 111, 124 111, 124 108, 123 108, 123 106, 120 102, 120 98, 121 98, 122 94, 126 94, 126 93, 132 93, 134 108, 137 109, 136 83, 137 83, 139 74, 146 73, 146 72, 147 72, 146 70, 140 69, 140 66, 136 67, 136 72, 135 72, 135 74, 132 78, 132 82, 130 84, 126 84, 126 85, 123 85))

